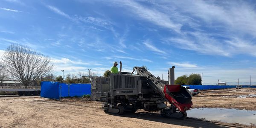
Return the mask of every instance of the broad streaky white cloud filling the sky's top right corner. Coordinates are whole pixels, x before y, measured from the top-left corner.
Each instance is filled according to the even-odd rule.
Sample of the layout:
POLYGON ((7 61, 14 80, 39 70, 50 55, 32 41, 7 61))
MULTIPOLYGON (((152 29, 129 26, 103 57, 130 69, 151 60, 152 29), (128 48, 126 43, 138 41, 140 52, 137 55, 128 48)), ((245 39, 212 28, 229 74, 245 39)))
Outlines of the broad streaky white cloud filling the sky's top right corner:
POLYGON ((177 6, 183 12, 200 17, 206 23, 214 24, 218 22, 227 31, 231 29, 234 32, 243 31, 256 35, 255 8, 253 4, 245 1, 218 2, 197 0, 193 3, 183 1, 177 2, 177 6))

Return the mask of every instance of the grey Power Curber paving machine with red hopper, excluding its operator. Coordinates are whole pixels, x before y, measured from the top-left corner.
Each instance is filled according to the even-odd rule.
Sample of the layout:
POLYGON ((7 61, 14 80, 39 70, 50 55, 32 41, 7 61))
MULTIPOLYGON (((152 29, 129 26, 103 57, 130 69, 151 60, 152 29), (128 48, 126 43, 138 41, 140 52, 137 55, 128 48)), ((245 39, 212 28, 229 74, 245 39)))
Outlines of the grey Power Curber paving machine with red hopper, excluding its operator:
POLYGON ((121 72, 120 62, 120 73, 110 73, 109 91, 101 93, 102 109, 116 115, 138 109, 160 111, 163 117, 186 119, 186 110, 192 108, 192 94, 185 87, 174 85, 174 68, 169 69, 169 85, 165 85, 144 67, 134 67, 132 73, 121 72), (132 75, 134 71, 137 75, 132 75))

